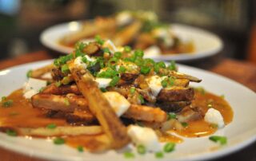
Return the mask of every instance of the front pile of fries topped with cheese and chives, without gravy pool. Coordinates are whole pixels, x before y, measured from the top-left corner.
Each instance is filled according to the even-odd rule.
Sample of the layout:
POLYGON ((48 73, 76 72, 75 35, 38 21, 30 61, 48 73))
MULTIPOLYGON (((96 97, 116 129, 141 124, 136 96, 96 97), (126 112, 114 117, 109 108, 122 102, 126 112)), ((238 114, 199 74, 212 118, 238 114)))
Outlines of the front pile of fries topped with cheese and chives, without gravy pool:
POLYGON ((189 105, 194 99, 189 83, 201 81, 178 73, 174 62, 166 65, 143 59, 142 50, 117 48, 100 37, 88 44, 78 43, 73 53, 31 71, 29 77, 49 82, 31 96, 34 108, 46 110, 46 117, 66 119, 70 125, 18 128, 18 132, 39 136, 94 135, 91 142, 98 144, 90 151, 125 147, 131 142, 127 134, 130 124, 144 124, 162 132, 181 128, 178 120, 169 120, 168 113, 180 112, 189 105), (46 77, 47 73, 51 77, 46 77))

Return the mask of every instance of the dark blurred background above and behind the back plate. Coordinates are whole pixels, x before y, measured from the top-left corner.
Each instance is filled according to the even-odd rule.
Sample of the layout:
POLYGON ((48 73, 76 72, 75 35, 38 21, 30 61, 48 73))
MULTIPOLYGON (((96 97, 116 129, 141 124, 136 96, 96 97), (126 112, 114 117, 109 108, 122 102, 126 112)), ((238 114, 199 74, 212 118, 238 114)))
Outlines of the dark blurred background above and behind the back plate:
POLYGON ((151 10, 163 22, 198 26, 224 41, 225 57, 256 64, 254 0, 0 0, 0 59, 38 51, 43 29, 121 10, 151 10))

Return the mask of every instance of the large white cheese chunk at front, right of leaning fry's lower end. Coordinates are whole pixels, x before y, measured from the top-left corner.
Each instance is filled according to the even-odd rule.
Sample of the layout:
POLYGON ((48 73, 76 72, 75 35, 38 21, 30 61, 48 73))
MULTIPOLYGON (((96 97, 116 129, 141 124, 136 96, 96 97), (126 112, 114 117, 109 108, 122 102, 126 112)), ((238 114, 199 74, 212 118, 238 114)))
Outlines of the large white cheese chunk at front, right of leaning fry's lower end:
POLYGON ((127 131, 132 142, 135 145, 143 145, 147 151, 160 151, 161 144, 158 141, 158 135, 152 128, 144 128, 136 125, 130 125, 127 131))

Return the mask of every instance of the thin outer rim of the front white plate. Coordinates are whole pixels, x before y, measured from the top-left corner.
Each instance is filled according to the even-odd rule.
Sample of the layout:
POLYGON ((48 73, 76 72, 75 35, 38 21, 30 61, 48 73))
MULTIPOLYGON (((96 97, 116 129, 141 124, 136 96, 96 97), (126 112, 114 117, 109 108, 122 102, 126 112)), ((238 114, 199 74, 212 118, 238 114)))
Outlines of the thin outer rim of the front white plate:
MULTIPOLYGON (((26 64, 22 64, 22 65, 15 65, 13 67, 10 67, 10 68, 6 68, 6 69, 2 69, 0 70, 0 72, 2 71, 6 71, 6 70, 15 70, 15 69, 19 69, 21 67, 26 67, 26 66, 30 66, 30 65, 43 65, 43 64, 46 64, 46 63, 50 63, 52 62, 53 59, 50 59, 50 60, 45 60, 45 61, 34 61, 34 62, 30 62, 30 63, 26 63, 26 64)), ((210 72, 210 71, 207 71, 207 70, 204 70, 204 69, 198 69, 198 68, 195 68, 195 67, 191 67, 191 66, 188 66, 188 65, 180 65, 178 64, 178 67, 182 67, 184 69, 188 68, 188 69, 191 69, 191 70, 198 70, 199 72, 203 72, 203 73, 207 73, 207 74, 210 74, 210 75, 214 75, 214 77, 221 77, 222 79, 225 79, 227 81, 231 81, 232 83, 242 87, 242 88, 245 88, 248 92, 251 92, 252 94, 255 94, 255 92, 246 87, 245 85, 243 84, 240 84, 238 83, 237 81, 234 81, 234 80, 231 80, 230 78, 228 77, 224 77, 222 75, 219 75, 217 73, 213 73, 213 72, 210 72)), ((25 74, 25 73, 24 73, 25 74)), ((1 133, 1 134, 4 134, 4 133, 1 133)), ((246 140, 243 140, 242 142, 240 143, 237 143, 235 145, 232 145, 231 147, 226 147, 225 149, 222 149, 222 150, 218 150, 218 151, 210 151, 209 153, 203 153, 202 155, 190 155, 190 159, 192 160, 204 160, 204 159, 218 159, 218 158, 221 158, 223 156, 226 156, 226 155, 230 155, 236 151, 239 151, 241 150, 242 148, 244 147, 248 147, 250 144, 254 143, 256 141, 256 135, 254 135, 253 137, 250 137, 249 139, 246 139, 246 140)), ((15 143, 14 143, 15 144, 15 143)), ((36 157, 36 158, 40 158, 40 159, 60 159, 59 157, 57 157, 56 155, 51 155, 47 152, 42 152, 42 151, 28 151, 26 149, 22 149, 21 147, 13 147, 14 144, 10 144, 10 143, 6 143, 6 141, 4 139, 0 139, 0 147, 6 149, 6 150, 9 150, 9 151, 14 151, 18 154, 22 154, 22 155, 28 155, 30 157, 36 157)), ((81 156, 73 156, 71 157, 72 159, 75 159, 75 160, 83 160, 81 158, 81 156)), ((67 159, 64 159, 64 158, 61 158, 61 159, 64 159, 64 160, 69 160, 71 158, 67 158, 67 159)), ((175 159, 175 160, 186 160, 187 158, 183 158, 183 159, 175 159)), ((134 159, 134 160, 137 160, 137 159, 134 159)), ((163 158, 162 160, 167 160, 165 158, 163 158)))

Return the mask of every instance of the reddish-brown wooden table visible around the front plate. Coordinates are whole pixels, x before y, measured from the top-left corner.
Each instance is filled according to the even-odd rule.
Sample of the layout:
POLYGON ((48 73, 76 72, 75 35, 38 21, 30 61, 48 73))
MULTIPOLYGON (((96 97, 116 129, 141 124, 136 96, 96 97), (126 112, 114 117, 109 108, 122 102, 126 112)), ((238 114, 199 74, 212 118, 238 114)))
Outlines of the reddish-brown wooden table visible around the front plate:
MULTIPOLYGON (((53 59, 58 55, 52 55, 46 51, 38 51, 35 53, 24 54, 10 60, 0 61, 0 69, 6 69, 14 65, 21 65, 32 61, 42 61, 46 59, 53 59)), ((256 92, 256 65, 252 65, 246 61, 234 61, 231 59, 223 58, 221 55, 210 57, 205 60, 198 60, 192 63, 185 63, 198 68, 206 69, 222 76, 229 77, 234 81, 244 84, 246 87, 256 92)), ((235 152, 232 155, 227 155, 218 160, 256 160, 256 143, 251 144, 249 147, 241 151, 235 152)), ((0 148, 1 161, 39 161, 41 159, 30 158, 29 156, 20 155, 12 151, 7 151, 0 148)))

